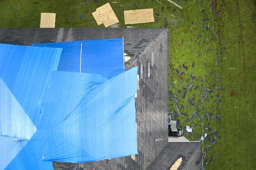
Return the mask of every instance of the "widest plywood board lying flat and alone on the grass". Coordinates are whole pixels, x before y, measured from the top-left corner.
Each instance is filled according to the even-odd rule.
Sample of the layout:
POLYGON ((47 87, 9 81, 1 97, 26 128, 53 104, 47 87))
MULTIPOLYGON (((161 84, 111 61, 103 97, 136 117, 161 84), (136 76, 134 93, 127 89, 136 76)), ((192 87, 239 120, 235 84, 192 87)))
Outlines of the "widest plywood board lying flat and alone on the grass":
POLYGON ((152 22, 155 22, 153 8, 124 11, 124 24, 139 24, 152 22))

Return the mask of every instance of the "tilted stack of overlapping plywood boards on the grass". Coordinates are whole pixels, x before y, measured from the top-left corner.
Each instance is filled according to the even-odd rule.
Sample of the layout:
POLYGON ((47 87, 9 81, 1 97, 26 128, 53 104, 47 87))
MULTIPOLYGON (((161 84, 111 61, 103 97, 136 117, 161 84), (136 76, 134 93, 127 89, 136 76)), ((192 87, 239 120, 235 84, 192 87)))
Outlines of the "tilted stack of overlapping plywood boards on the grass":
POLYGON ((93 12, 92 15, 98 25, 103 23, 105 27, 109 27, 113 24, 119 23, 119 20, 109 3, 97 8, 96 11, 97 12, 93 12))

